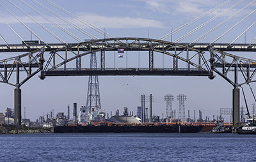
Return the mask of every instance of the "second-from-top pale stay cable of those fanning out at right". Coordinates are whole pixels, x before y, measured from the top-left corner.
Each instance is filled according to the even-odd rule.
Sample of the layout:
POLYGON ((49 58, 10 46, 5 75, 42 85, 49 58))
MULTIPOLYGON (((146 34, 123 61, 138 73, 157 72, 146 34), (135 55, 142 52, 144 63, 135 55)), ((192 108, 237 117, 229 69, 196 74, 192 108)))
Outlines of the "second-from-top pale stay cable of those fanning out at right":
POLYGON ((218 15, 216 15, 215 17, 212 17, 210 20, 207 20, 207 22, 204 22, 204 24, 201 24, 200 26, 196 27, 195 29, 193 29, 192 31, 189 31, 189 33, 185 34, 184 36, 181 36, 180 38, 178 38, 177 40, 175 40, 174 42, 177 43, 181 40, 184 40, 184 38, 187 38, 189 35, 195 33, 196 31, 198 31, 199 29, 201 29, 202 27, 204 27, 205 25, 209 24, 210 22, 212 22, 212 20, 215 20, 216 18, 220 17, 221 15, 223 15, 224 13, 226 13, 227 11, 231 10, 232 8, 236 7, 238 4, 242 3, 244 0, 239 1, 238 3, 234 4, 233 6, 231 6, 230 8, 227 8, 226 10, 222 11, 221 13, 219 13, 218 15))

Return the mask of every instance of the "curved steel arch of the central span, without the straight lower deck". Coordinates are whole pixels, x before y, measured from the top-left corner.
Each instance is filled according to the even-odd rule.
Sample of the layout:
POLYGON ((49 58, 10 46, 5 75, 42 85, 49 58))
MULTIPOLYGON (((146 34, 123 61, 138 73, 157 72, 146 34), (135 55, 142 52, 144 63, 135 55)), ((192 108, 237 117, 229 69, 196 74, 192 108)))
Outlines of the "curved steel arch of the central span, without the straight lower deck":
POLYGON ((154 40, 149 38, 108 38, 101 40, 90 40, 52 50, 50 52, 50 59, 47 61, 41 76, 47 76, 47 73, 49 74, 50 71, 56 71, 60 69, 60 67, 63 68, 63 66, 63 70, 67 70, 65 68, 65 64, 68 64, 70 61, 74 60, 77 60, 77 70, 81 70, 81 66, 79 66, 79 58, 83 57, 84 55, 91 54, 92 52, 100 52, 100 70, 106 71, 104 64, 107 54, 105 54, 105 52, 117 51, 118 49, 125 51, 148 51, 148 70, 156 69, 154 68, 154 52, 157 52, 173 57, 173 66, 170 68, 172 71, 179 71, 179 60, 188 64, 186 67, 186 71, 188 71, 188 73, 184 75, 189 75, 190 70, 197 70, 200 71, 200 73, 203 72, 204 76, 213 78, 211 67, 207 63, 207 59, 205 59, 203 51, 186 45, 179 45, 169 41, 154 40), (63 51, 66 51, 65 56, 61 57, 59 52, 63 51), (68 52, 71 52, 72 55, 69 56, 67 54, 68 52), (59 57, 61 60, 58 63, 56 61, 57 57, 59 57), (193 68, 190 68, 191 66, 193 66, 193 68))

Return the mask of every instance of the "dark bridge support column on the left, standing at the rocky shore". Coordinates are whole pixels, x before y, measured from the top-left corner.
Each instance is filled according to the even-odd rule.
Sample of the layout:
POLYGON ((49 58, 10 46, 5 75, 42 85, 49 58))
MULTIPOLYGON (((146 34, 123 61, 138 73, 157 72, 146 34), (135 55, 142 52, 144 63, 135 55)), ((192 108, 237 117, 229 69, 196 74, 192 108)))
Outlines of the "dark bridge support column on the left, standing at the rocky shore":
POLYGON ((21 90, 19 87, 14 89, 14 124, 21 124, 21 90))

